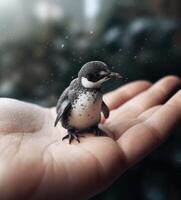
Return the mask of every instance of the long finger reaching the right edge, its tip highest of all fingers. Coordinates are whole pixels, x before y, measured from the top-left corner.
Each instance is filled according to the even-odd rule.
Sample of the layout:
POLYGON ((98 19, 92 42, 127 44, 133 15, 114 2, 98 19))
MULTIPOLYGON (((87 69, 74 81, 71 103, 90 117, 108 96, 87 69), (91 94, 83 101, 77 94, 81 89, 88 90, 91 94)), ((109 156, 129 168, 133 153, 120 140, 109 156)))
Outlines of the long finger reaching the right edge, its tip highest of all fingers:
POLYGON ((110 116, 110 120, 135 118, 145 110, 164 103, 180 86, 180 78, 175 76, 165 77, 145 92, 134 97, 123 106, 120 106, 115 112, 112 112, 112 118, 110 116))

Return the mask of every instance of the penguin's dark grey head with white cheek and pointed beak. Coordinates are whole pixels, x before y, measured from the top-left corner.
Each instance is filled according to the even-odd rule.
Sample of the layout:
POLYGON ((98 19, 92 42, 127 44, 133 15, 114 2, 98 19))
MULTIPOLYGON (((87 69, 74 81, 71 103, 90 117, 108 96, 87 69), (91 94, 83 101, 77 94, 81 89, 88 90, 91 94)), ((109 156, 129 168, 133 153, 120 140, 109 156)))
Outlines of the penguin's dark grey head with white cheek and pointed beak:
POLYGON ((78 78, 85 88, 99 88, 102 83, 113 77, 122 78, 120 74, 111 72, 108 66, 101 61, 87 62, 78 73, 78 78))

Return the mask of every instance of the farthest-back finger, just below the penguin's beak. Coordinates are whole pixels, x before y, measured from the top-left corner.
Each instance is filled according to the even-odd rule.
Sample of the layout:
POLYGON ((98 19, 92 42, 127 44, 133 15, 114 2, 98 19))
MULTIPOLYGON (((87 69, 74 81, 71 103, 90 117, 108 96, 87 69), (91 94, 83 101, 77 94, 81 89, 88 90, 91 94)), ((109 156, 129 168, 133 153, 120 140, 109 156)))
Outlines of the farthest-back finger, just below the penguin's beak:
POLYGON ((123 87, 120 87, 112 92, 107 93, 104 96, 104 101, 108 105, 109 109, 115 109, 121 104, 125 103, 129 99, 145 91, 151 86, 148 81, 135 81, 128 83, 123 87))

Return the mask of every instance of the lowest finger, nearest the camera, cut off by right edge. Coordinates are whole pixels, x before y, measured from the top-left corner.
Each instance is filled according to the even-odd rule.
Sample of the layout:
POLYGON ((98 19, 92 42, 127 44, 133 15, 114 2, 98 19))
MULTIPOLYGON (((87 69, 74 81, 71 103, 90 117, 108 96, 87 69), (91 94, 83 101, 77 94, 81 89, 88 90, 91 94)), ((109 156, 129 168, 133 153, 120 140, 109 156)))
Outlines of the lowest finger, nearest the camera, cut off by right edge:
POLYGON ((179 123, 181 123, 181 91, 149 119, 129 129, 117 140, 128 165, 134 164, 154 150, 179 123))

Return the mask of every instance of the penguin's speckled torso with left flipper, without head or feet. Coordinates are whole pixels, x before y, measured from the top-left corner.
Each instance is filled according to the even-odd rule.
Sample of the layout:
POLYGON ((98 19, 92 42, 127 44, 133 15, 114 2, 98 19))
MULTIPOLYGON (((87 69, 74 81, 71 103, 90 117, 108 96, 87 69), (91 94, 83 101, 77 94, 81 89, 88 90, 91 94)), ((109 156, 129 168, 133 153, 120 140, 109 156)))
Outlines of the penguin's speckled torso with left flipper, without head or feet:
POLYGON ((100 122, 101 110, 101 90, 84 88, 74 79, 58 100, 55 125, 60 121, 66 129, 86 129, 100 122))

